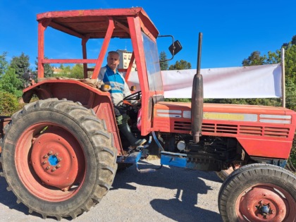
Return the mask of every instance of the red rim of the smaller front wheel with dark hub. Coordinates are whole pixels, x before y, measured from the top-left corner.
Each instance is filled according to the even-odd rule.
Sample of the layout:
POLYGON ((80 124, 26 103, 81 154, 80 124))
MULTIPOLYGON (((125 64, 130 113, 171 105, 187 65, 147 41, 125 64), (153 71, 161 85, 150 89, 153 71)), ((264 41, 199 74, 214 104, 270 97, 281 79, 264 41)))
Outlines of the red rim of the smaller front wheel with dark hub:
POLYGON ((283 188, 257 184, 242 192, 235 202, 238 221, 293 221, 296 203, 283 188))

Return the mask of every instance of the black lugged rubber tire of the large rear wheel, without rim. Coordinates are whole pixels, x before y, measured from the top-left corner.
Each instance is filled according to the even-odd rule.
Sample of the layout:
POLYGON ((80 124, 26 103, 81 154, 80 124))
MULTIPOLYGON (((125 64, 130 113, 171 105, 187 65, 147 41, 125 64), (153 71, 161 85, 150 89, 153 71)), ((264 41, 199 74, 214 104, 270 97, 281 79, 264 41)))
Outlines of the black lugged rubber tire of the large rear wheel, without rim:
MULTIPOLYGON (((114 176, 116 175, 116 149, 112 147, 112 136, 111 133, 106 129, 106 123, 103 120, 99 120, 97 116, 95 116, 94 111, 92 109, 86 109, 80 103, 68 101, 68 100, 58 100, 56 98, 53 99, 45 99, 38 100, 32 102, 31 104, 27 104, 23 107, 22 110, 13 114, 11 123, 7 124, 4 128, 6 135, 9 134, 9 131, 13 128, 13 125, 17 124, 20 119, 25 118, 26 115, 38 111, 53 111, 56 113, 61 113, 64 116, 70 118, 72 121, 80 125, 80 128, 85 131, 89 140, 92 144, 94 152, 97 156, 97 182, 94 184, 92 188, 92 192, 90 197, 87 197, 87 201, 80 204, 73 204, 73 209, 70 209, 68 212, 56 214, 52 213, 52 209, 48 209, 48 211, 41 211, 37 207, 32 207, 30 204, 30 199, 21 199, 18 197, 18 193, 14 190, 11 185, 11 175, 5 171, 1 173, 2 176, 6 178, 8 181, 8 191, 13 191, 16 195, 18 202, 22 202, 29 208, 29 213, 33 211, 42 215, 43 218, 47 218, 47 216, 54 216, 58 220, 61 220, 63 217, 76 218, 78 215, 82 214, 84 211, 89 211, 94 204, 97 204, 103 197, 106 195, 106 192, 110 189, 114 176), (84 124, 87 122, 87 124, 84 124), (90 125, 97 130, 90 130, 90 125), (102 138, 104 137, 104 138, 102 138), (95 201, 94 201, 95 200, 95 201)), ((93 128, 92 127, 92 128, 93 128)), ((6 136, 4 137, 4 152, 5 152, 5 141, 6 136)), ((1 157, 0 162, 5 161, 3 157, 1 157)), ((5 165, 5 164, 4 164, 5 165)))

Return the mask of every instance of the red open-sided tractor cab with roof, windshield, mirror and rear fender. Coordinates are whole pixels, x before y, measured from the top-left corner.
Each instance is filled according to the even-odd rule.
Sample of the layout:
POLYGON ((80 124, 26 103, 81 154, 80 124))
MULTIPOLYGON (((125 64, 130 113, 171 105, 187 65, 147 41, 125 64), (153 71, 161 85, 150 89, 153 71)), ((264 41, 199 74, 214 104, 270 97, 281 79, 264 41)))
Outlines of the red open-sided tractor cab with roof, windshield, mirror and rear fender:
MULTIPOLYGON (((87 109, 94 109, 98 118, 106 121, 107 128, 113 133, 118 154, 123 154, 123 147, 118 139, 118 130, 113 117, 109 92, 99 85, 97 77, 101 67, 106 66, 106 53, 118 50, 122 53, 119 72, 123 73, 125 80, 134 78, 137 85, 132 93, 140 99, 141 124, 138 136, 147 136, 152 130, 153 106, 158 101, 164 101, 164 89, 161 78, 159 51, 156 38, 159 31, 156 29, 147 13, 142 8, 100 9, 83 11, 53 11, 37 15, 38 21, 38 80, 37 84, 24 90, 23 99, 29 102, 33 94, 39 99, 51 97, 78 101, 87 109), (47 45, 45 37, 47 32, 62 32, 75 38, 81 47, 82 58, 47 58, 45 51, 47 45), (89 58, 93 47, 101 45, 99 53, 89 58), (114 47, 116 46, 116 47, 114 47), (127 49, 122 50, 123 47, 127 49), (71 80, 68 78, 44 78, 45 64, 83 64, 83 76, 89 80, 71 80), (137 75, 132 75, 132 71, 137 75), (82 83, 82 84, 81 84, 82 83), (85 85, 87 83, 87 85, 85 85), (97 87, 99 90, 92 87, 97 87), (103 90, 102 90, 103 89, 103 90), (108 114, 101 111, 107 106, 108 114)), ((50 34, 50 33, 49 33, 50 34)), ((172 36, 161 36, 172 37, 172 36)), ((172 37, 173 39, 173 37, 172 37)), ((73 45, 73 47, 75 47, 73 45)), ((174 56, 182 47, 178 41, 171 44, 169 51, 174 56)), ((66 76, 65 76, 66 77, 66 76)), ((137 121, 136 107, 131 113, 137 121), (135 113, 136 112, 136 113, 135 113)))

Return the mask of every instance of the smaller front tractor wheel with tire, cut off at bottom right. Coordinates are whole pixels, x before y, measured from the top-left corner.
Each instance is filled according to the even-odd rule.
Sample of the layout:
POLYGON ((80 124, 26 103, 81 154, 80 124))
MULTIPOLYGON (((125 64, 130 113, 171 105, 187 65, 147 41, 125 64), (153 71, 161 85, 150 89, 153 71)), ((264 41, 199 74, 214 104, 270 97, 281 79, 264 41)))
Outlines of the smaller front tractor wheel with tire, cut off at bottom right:
POLYGON ((277 166, 254 165, 223 183, 218 201, 223 221, 295 221, 296 176, 277 166))

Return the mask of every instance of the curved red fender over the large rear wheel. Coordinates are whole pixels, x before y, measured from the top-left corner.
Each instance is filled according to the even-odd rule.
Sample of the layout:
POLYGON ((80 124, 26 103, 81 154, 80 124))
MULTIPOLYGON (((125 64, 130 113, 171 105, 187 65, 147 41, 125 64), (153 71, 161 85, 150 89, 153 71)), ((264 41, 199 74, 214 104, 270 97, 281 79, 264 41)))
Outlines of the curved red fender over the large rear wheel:
POLYGON ((113 145, 118 155, 123 155, 116 118, 109 92, 102 92, 96 87, 78 80, 44 80, 23 90, 23 100, 28 103, 36 95, 39 99, 67 99, 79 102, 87 109, 93 109, 97 118, 104 119, 106 128, 113 135, 113 145))

